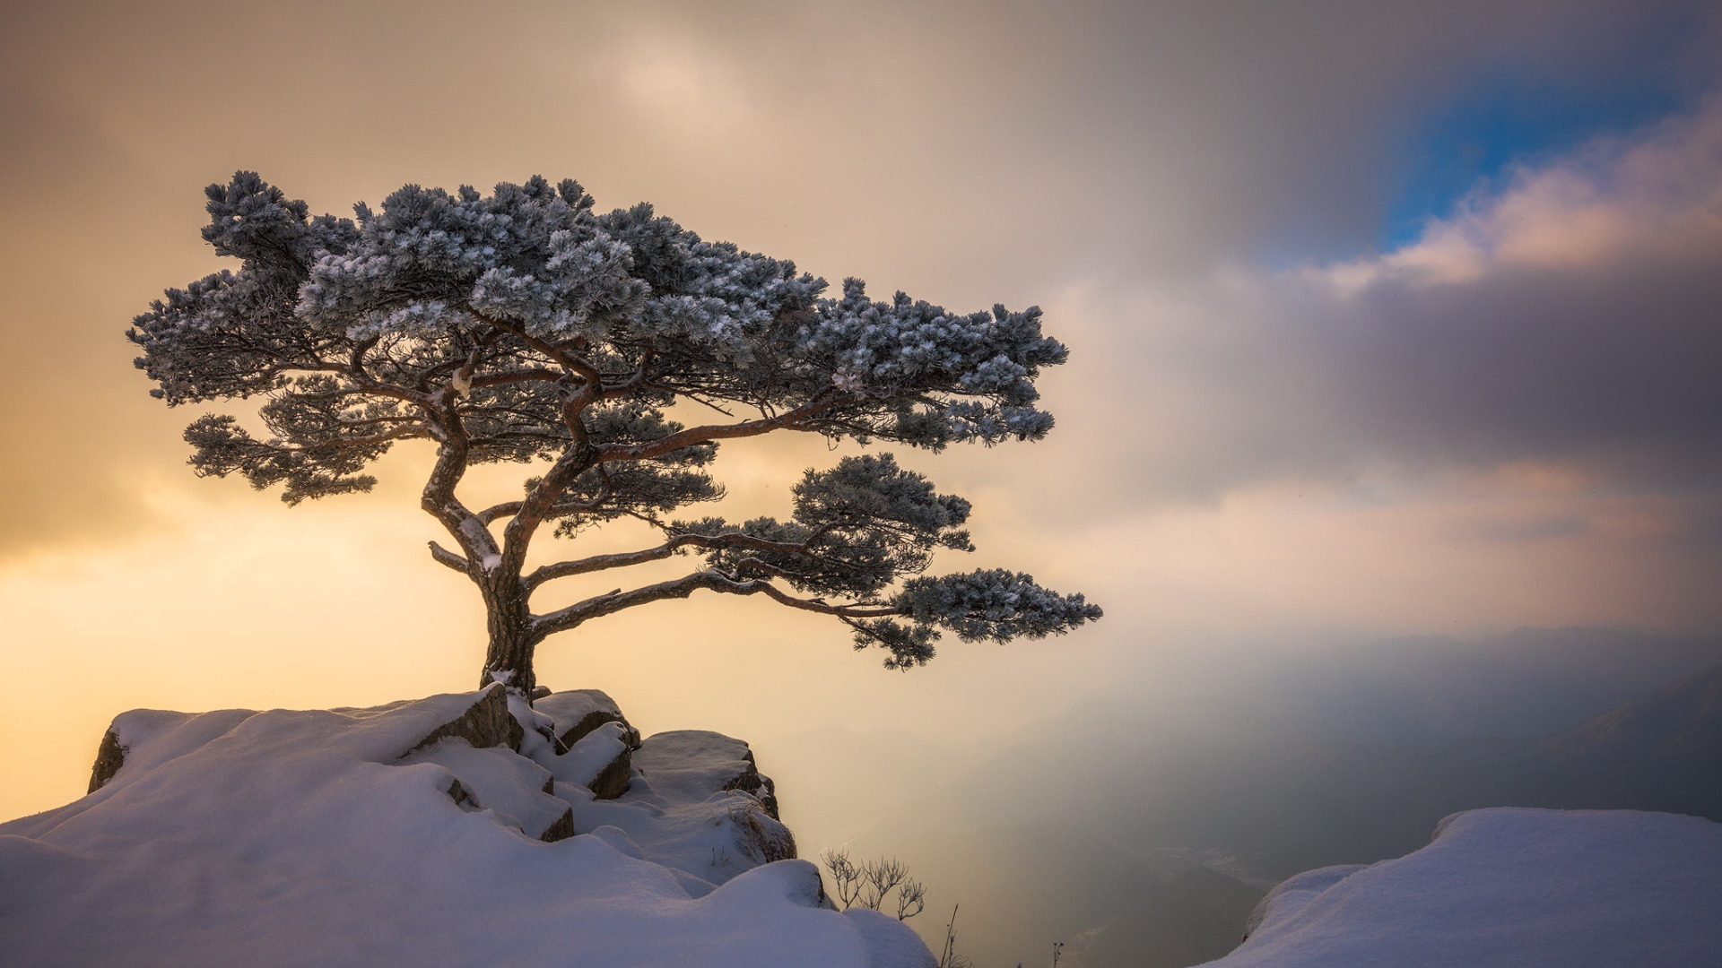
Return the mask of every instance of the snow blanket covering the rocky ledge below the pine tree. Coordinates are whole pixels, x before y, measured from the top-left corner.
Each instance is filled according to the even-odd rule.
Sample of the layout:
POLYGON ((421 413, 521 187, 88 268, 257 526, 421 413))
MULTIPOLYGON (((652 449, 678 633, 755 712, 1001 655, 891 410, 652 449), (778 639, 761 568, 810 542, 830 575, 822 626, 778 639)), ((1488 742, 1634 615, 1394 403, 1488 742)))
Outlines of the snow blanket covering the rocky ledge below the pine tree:
MULTIPOLYGON (((479 696, 119 717, 126 763, 100 791, 0 823, 0 961, 932 965, 907 927, 821 904, 808 861, 746 866, 689 890, 685 873, 651 859, 663 837, 641 816, 627 816, 641 822, 629 832, 523 835, 505 813, 554 804, 525 796, 548 773, 522 756, 449 741, 401 758, 479 696), (484 810, 455 804, 456 779, 484 810)), ((554 789, 580 799, 573 784, 554 789)), ((746 797, 708 799, 728 810, 735 796, 746 797)), ((663 803, 634 810, 691 810, 663 803)))

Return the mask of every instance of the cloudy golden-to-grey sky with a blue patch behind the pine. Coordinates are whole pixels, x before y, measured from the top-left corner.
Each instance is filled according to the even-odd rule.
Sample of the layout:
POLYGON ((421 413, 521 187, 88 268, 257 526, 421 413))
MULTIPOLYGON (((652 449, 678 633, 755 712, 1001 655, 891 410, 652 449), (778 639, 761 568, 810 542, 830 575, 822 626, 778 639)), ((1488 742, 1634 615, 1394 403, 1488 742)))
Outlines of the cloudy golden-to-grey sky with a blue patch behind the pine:
MULTIPOLYGON (((122 332, 313 212, 575 177, 957 310, 1040 305, 1037 444, 902 455, 1106 618, 885 672, 692 599, 539 649, 647 732, 983 737, 1221 644, 1722 630, 1722 12, 1707 2, 53 3, 0 31, 0 816, 136 706, 468 689, 425 455, 286 508, 196 479, 122 332)), ((737 513, 818 441, 725 444, 737 513)), ((510 493, 505 477, 475 487, 510 493)), ((728 508, 725 508, 728 513, 728 508)), ((637 536, 599 536, 625 548, 637 536)), ((766 758, 768 760, 768 758, 766 758)))

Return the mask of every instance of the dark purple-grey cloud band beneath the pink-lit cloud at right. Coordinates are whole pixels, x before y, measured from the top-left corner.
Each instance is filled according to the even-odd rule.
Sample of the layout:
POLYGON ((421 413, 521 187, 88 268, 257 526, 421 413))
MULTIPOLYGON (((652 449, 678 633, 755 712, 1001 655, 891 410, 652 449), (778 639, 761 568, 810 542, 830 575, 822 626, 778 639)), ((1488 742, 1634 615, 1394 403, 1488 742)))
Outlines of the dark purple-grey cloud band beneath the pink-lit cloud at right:
POLYGON ((1405 456, 1543 456, 1638 484, 1715 481, 1719 307, 1722 246, 1502 272, 1452 291, 1386 286, 1331 346, 1331 406, 1359 439, 1405 456))

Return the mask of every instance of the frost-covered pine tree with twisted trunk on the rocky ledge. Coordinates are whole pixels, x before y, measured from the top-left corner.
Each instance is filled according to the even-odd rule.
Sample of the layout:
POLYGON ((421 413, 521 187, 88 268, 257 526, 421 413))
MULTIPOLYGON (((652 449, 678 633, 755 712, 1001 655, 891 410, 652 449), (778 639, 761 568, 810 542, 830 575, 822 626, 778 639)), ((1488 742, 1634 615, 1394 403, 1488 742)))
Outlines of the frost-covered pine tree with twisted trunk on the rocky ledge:
POLYGON ((207 195, 203 238, 238 270, 169 289, 127 336, 155 396, 258 396, 270 436, 205 415, 186 429, 191 465, 281 484, 294 505, 369 489, 365 467, 400 441, 434 446, 422 506, 453 548, 430 555, 484 598, 480 684, 530 692, 548 636, 701 589, 832 615, 892 668, 932 658, 940 629, 1002 642, 1100 617, 1009 570, 925 575, 935 549, 971 548, 969 505, 889 453, 808 470, 789 520, 672 517, 723 494, 706 467, 725 439, 802 431, 938 451, 1045 436, 1035 377, 1066 350, 1037 308, 873 301, 854 279, 830 298, 794 264, 708 243, 647 205, 599 215, 573 181, 406 186, 351 220, 313 219, 251 172, 207 195), (496 462, 536 465, 520 500, 463 503, 467 468, 496 462), (527 568, 541 532, 620 518, 661 541, 527 568), (701 563, 554 601, 558 579, 675 555, 701 563))

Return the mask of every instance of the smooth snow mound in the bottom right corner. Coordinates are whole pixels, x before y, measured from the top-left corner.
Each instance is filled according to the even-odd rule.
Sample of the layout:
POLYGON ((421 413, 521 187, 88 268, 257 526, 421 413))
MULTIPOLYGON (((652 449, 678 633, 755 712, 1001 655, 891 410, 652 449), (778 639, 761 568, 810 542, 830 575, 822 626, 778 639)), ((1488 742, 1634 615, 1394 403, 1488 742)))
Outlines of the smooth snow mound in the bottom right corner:
POLYGON ((1300 873, 1211 968, 1715 968, 1722 823, 1474 810, 1421 851, 1300 873))

